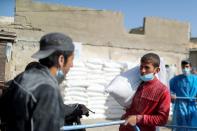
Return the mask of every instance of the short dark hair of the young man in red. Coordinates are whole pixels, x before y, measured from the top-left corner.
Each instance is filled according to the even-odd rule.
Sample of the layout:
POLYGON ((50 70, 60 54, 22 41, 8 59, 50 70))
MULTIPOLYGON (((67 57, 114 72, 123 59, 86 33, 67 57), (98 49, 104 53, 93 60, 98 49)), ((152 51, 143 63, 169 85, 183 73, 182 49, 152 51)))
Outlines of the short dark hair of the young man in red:
POLYGON ((159 65, 160 65, 160 58, 155 53, 148 53, 148 54, 145 54, 144 56, 142 56, 140 62, 141 63, 150 62, 150 63, 153 64, 154 67, 159 67, 159 65))

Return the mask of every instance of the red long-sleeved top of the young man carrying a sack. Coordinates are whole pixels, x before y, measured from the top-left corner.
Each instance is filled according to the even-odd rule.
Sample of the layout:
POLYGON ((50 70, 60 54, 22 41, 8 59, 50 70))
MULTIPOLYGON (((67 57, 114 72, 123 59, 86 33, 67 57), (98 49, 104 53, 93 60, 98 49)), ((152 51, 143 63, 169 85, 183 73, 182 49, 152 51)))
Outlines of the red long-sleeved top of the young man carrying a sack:
MULTIPOLYGON (((140 131, 155 131, 156 126, 165 125, 170 110, 170 92, 157 78, 142 83, 133 102, 126 110, 123 118, 137 115, 137 125, 140 131)), ((134 131, 130 126, 120 125, 120 131, 134 131)))

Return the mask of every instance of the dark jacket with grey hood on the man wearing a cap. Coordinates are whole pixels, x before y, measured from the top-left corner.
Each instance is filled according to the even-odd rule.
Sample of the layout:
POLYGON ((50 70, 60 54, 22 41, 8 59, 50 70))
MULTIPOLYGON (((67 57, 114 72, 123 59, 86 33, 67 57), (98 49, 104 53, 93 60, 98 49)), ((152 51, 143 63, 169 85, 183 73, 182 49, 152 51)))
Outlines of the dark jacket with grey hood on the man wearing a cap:
POLYGON ((7 131, 60 131, 75 110, 64 105, 57 80, 39 63, 10 83, 0 100, 7 131))

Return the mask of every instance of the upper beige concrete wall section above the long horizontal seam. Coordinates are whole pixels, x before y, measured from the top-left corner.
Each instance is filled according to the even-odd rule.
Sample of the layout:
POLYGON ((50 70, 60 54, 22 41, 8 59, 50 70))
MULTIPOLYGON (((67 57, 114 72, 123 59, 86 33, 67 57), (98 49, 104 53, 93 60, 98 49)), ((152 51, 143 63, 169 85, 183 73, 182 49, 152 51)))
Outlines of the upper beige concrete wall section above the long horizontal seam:
POLYGON ((64 32, 75 41, 90 45, 187 52, 188 23, 146 17, 145 34, 135 35, 126 32, 123 15, 119 12, 25 3, 27 6, 24 0, 17 0, 15 23, 29 30, 64 32))

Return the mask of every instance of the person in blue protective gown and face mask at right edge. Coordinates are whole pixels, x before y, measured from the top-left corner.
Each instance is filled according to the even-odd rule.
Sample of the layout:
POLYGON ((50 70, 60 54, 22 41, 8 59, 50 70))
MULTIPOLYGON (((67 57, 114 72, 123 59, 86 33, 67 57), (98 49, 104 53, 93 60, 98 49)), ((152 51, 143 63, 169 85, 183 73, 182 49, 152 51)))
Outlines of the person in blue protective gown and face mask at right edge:
MULTIPOLYGON (((180 99, 178 97, 197 96, 197 75, 191 73, 191 63, 188 60, 181 62, 182 72, 170 80, 171 97, 174 101, 173 125, 197 127, 196 100, 180 99)), ((194 131, 197 129, 176 128, 173 131, 194 131)))

